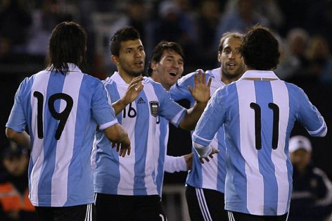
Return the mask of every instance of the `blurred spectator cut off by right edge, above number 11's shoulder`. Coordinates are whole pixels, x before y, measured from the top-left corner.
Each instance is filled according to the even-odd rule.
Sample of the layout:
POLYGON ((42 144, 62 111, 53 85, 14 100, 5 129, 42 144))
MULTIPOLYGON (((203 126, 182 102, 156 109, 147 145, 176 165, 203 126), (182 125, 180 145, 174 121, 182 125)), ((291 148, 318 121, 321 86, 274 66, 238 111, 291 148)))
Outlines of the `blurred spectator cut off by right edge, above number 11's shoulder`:
POLYGON ((312 37, 306 55, 311 75, 323 84, 332 84, 332 57, 326 38, 321 35, 312 37))

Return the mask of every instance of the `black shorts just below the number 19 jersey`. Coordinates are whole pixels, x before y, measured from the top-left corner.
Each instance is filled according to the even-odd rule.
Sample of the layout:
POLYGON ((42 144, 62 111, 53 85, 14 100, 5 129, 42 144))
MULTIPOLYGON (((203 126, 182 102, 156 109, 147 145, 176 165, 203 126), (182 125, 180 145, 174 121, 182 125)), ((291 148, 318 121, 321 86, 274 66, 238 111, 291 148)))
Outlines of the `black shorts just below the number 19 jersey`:
POLYGON ((95 221, 95 205, 48 207, 35 206, 39 221, 95 221))

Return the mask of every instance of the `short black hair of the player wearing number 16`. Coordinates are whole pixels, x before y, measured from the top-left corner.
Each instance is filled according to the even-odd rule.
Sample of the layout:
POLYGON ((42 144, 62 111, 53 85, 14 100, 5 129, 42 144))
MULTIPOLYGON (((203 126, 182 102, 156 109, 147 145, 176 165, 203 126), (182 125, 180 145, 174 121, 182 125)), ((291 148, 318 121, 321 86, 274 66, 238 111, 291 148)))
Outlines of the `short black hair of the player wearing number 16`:
POLYGON ((130 41, 140 39, 140 33, 138 30, 132 26, 124 26, 116 31, 116 33, 111 38, 110 48, 111 55, 119 56, 120 55, 120 46, 122 41, 130 41))

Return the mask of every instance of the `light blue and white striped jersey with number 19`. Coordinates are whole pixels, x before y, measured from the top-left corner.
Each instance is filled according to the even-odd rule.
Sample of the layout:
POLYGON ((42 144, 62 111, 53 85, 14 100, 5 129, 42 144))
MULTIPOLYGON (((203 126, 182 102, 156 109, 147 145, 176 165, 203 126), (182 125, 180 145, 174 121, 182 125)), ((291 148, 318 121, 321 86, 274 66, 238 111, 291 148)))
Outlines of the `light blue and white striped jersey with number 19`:
POLYGON ((93 202, 90 154, 97 124, 118 121, 102 82, 69 64, 22 81, 6 127, 31 137, 30 200, 35 206, 93 202))

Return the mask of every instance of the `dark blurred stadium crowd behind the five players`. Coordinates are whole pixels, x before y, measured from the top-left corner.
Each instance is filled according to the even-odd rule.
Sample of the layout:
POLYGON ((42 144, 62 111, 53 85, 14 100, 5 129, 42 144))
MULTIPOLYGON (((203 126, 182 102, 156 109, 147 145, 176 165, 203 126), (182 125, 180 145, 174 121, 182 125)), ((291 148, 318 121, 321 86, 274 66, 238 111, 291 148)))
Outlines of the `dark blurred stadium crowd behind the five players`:
MULTIPOLYGON (((217 67, 217 46, 224 32, 246 32, 261 23, 279 39, 282 57, 275 73, 304 89, 331 131, 331 0, 0 0, 1 148, 8 145, 4 128, 15 91, 24 77, 44 68, 50 32, 61 21, 77 21, 86 29, 84 71, 100 79, 116 70, 109 40, 122 26, 138 29, 147 61, 158 41, 181 44, 187 74, 217 67)), ((307 133, 295 126, 292 135, 307 133)), ((311 138, 311 142, 314 164, 331 178, 331 132, 323 139, 311 138)), ((189 133, 171 128, 169 154, 189 153, 190 144, 189 133)), ((167 175, 165 181, 183 182, 185 175, 167 175)))

